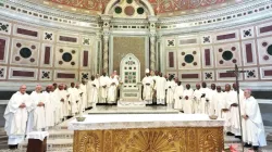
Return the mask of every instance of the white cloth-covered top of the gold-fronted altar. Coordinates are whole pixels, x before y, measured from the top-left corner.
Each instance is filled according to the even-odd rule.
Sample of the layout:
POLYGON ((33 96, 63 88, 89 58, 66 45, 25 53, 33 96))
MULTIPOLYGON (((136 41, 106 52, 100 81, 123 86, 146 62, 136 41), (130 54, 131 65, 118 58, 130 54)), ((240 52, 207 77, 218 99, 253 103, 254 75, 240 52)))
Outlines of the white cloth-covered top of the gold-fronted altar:
POLYGON ((205 114, 114 114, 84 115, 85 122, 73 119, 69 124, 71 130, 101 130, 125 128, 159 127, 218 127, 223 119, 210 119, 205 114))

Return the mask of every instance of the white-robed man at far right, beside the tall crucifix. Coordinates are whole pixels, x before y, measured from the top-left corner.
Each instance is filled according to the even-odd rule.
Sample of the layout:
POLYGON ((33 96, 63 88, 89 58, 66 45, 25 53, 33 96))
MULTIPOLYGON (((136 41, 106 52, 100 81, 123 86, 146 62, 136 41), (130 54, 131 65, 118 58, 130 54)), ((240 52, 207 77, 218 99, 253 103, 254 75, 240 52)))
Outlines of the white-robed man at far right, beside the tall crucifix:
POLYGON ((257 100, 251 97, 251 90, 247 89, 244 92, 245 99, 243 101, 243 119, 245 119, 245 134, 243 134, 243 141, 247 145, 252 145, 257 151, 259 147, 265 147, 265 132, 262 123, 262 117, 257 100))

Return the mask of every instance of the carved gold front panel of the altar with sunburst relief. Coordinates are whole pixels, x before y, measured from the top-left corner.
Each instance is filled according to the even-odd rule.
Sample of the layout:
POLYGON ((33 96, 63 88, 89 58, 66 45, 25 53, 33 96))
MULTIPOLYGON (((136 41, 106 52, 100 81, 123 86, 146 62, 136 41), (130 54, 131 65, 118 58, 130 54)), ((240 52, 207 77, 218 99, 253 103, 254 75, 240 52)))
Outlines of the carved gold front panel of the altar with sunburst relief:
POLYGON ((218 152, 223 127, 79 130, 74 152, 218 152))

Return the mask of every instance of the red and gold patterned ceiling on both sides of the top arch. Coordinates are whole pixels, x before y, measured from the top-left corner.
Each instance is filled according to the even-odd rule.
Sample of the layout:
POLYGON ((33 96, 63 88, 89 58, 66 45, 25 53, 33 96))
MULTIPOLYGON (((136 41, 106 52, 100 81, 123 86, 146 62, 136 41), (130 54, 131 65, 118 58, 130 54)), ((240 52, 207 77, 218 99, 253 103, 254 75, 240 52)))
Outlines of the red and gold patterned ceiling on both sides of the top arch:
MULTIPOLYGON (((46 0, 44 3, 57 4, 58 8, 64 7, 102 13, 110 0, 46 0), (62 7, 60 7, 62 5, 62 7)), ((133 0, 120 0, 133 1, 133 0)), ((137 0, 138 1, 138 0, 137 0)), ((235 4, 243 0, 148 0, 156 14, 158 15, 181 15, 186 13, 196 13, 211 9, 235 4)), ((64 9, 63 8, 63 9, 64 9)))

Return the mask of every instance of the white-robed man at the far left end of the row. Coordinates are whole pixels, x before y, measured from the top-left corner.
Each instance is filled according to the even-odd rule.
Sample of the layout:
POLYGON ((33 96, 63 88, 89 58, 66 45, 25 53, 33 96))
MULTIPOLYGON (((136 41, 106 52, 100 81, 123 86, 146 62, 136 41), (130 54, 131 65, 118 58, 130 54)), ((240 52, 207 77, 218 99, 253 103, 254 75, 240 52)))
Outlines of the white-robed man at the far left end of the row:
POLYGON ((16 149, 17 144, 24 141, 30 104, 30 98, 26 93, 26 86, 22 85, 20 91, 11 97, 3 115, 5 119, 4 130, 9 136, 8 144, 10 149, 16 149))

